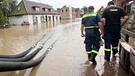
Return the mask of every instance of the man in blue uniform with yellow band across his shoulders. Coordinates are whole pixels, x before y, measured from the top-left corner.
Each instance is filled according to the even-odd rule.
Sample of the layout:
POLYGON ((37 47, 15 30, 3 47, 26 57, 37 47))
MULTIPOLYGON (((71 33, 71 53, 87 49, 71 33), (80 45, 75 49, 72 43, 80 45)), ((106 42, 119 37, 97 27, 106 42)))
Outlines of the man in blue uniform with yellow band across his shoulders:
MULTIPOLYGON (((101 19, 97 13, 94 13, 94 7, 89 6, 88 12, 82 17, 81 36, 85 36, 85 49, 88 54, 88 59, 96 64, 95 57, 98 54, 100 48, 100 31, 99 25, 102 25, 101 19), (84 34, 85 32, 85 34, 84 34)), ((101 30, 102 32, 102 30, 101 30)))

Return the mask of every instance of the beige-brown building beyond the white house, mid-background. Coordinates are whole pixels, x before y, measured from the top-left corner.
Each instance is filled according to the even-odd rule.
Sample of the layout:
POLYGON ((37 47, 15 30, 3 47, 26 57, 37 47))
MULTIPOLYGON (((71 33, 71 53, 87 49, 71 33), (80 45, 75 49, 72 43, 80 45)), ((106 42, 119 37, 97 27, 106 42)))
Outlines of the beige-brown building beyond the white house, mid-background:
POLYGON ((61 15, 61 19, 74 19, 76 18, 75 8, 63 6, 58 8, 58 12, 61 15))

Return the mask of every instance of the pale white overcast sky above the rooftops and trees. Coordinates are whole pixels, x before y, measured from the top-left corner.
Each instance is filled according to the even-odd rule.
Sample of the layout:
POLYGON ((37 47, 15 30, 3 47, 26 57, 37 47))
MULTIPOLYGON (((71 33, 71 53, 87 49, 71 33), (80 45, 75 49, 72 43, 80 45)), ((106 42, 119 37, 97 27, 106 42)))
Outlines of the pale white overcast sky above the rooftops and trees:
MULTIPOLYGON (((21 0, 18 0, 20 2, 21 0)), ((95 10, 100 9, 101 6, 106 7, 108 1, 111 0, 29 0, 33 2, 41 2, 43 4, 49 4, 54 9, 62 8, 63 5, 71 6, 75 8, 82 8, 83 6, 90 6, 93 5, 95 10)))

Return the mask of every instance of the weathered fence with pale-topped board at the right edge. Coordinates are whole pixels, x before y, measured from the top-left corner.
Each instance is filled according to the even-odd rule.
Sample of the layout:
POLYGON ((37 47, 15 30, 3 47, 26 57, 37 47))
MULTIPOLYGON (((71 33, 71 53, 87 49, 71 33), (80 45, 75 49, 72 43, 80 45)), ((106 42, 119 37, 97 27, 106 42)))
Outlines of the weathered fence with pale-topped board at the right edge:
MULTIPOLYGON (((135 33, 122 28, 119 45, 119 62, 130 76, 135 76, 135 47, 129 43, 131 38, 135 39, 135 33)), ((132 42, 134 43, 134 40, 132 42)))

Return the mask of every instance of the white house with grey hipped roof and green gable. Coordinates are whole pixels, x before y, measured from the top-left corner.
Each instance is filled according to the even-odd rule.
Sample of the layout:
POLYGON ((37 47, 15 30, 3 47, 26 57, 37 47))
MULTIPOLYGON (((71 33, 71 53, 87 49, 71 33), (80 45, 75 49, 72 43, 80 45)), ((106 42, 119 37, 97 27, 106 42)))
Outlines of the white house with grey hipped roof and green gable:
POLYGON ((59 13, 52 6, 27 0, 22 0, 9 15, 11 25, 45 23, 59 19, 59 13))

